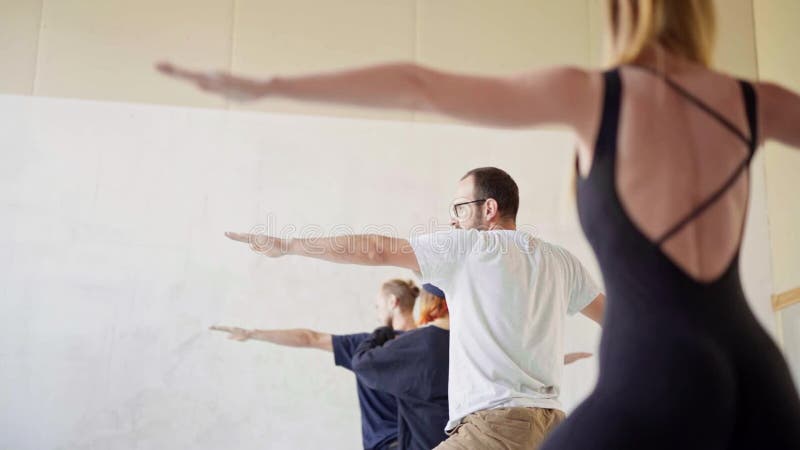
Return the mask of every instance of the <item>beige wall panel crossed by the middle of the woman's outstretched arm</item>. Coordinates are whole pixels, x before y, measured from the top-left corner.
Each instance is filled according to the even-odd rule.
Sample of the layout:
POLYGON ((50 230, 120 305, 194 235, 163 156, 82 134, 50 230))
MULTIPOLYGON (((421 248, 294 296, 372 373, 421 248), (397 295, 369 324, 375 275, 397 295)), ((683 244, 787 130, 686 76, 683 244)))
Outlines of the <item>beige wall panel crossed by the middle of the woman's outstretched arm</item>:
MULTIPOLYGON (((232 68, 263 76, 416 59, 414 0, 238 0, 232 68)), ((180 55, 176 55, 176 58, 180 55)), ((272 100, 236 109, 410 120, 408 112, 272 100)))

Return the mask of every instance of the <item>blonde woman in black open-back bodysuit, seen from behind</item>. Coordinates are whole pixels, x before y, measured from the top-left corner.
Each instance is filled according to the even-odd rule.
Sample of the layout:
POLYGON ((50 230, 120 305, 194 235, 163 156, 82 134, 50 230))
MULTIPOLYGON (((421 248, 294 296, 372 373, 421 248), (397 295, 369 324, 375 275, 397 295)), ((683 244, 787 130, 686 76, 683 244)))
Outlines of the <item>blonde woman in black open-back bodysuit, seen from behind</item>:
MULTIPOLYGON (((579 217, 608 297, 595 391, 543 449, 800 448, 800 396, 739 275, 750 162, 767 140, 800 148, 800 95, 712 68, 712 0, 605 5, 607 70, 482 76, 393 63, 265 79, 159 70, 237 100, 566 127, 576 138, 579 217)), ((364 240, 401 251, 329 259, 419 269, 407 241, 364 240)), ((459 437, 464 429, 441 449, 475 448, 459 437)), ((481 448, 523 448, 506 441, 481 448)))

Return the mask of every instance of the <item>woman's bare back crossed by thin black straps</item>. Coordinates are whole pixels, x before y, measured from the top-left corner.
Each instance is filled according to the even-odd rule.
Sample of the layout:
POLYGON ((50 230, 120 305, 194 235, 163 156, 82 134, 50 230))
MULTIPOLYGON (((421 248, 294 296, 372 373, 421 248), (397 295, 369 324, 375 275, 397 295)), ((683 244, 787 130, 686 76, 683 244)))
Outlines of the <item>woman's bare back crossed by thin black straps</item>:
MULTIPOLYGON (((747 161, 750 150, 739 136, 658 74, 636 66, 625 66, 620 73, 617 194, 634 225, 658 243, 726 184, 747 161)), ((738 80, 689 65, 665 75, 743 137, 751 138, 738 80)), ((587 165, 581 166, 585 171, 587 165)), ((660 244, 664 254, 691 278, 713 281, 731 264, 746 220, 748 182, 744 170, 719 198, 660 244)))

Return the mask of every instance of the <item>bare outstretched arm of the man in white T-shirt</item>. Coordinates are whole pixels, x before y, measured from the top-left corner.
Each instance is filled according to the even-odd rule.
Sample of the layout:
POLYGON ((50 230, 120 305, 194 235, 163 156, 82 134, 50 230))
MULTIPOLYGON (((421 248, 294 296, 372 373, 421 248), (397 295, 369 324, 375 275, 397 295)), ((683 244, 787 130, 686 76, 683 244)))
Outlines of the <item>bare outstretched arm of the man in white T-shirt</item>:
POLYGON ((394 266, 419 272, 419 263, 406 239, 377 234, 309 239, 280 239, 263 234, 227 232, 228 238, 250 245, 265 256, 305 256, 339 264, 394 266))

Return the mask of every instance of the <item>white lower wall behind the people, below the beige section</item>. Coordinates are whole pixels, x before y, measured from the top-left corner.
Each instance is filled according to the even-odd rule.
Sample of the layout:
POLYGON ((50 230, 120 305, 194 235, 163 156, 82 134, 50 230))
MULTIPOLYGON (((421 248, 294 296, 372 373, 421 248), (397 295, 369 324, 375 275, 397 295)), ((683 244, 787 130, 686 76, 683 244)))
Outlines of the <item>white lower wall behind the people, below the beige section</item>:
MULTIPOLYGON (((0 96, 0 142, 0 448, 356 448, 354 379, 330 354, 206 328, 370 330, 381 281, 410 273, 268 260, 225 230, 407 236, 446 223, 464 172, 496 165, 520 185, 520 223, 600 280, 560 132, 0 96)), ((765 258, 744 261, 755 303, 765 258)), ((567 350, 598 337, 571 319, 567 350)), ((595 360, 568 368, 568 409, 595 376, 595 360)))

